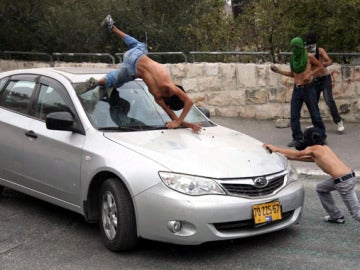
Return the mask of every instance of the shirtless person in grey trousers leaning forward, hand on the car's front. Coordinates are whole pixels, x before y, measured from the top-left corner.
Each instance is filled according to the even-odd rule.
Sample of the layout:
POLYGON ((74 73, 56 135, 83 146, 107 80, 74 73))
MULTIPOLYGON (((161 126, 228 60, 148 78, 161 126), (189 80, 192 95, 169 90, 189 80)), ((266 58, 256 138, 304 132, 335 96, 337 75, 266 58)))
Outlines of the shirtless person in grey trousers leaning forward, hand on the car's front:
POLYGON ((325 221, 345 223, 344 215, 335 205, 331 195, 331 191, 337 190, 352 217, 360 222, 360 205, 355 193, 355 173, 338 158, 329 146, 324 145, 324 140, 315 128, 305 129, 304 140, 302 144, 297 146, 299 151, 284 149, 271 144, 264 144, 264 147, 270 153, 281 153, 290 160, 315 162, 320 169, 331 176, 330 179, 323 180, 316 186, 319 199, 329 214, 325 216, 325 221))

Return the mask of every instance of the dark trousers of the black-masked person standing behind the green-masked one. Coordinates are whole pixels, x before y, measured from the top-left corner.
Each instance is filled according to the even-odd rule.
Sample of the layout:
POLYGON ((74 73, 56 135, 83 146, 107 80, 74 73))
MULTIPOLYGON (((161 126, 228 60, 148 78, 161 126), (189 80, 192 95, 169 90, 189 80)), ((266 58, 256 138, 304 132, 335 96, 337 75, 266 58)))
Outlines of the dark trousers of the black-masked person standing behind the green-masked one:
POLYGON ((331 75, 328 74, 325 76, 317 77, 314 79, 314 81, 315 81, 314 85, 318 94, 318 102, 320 99, 320 94, 321 92, 323 92, 325 103, 330 109, 330 113, 334 123, 335 124, 339 123, 341 121, 341 117, 339 115, 339 111, 336 107, 336 103, 332 95, 331 75))

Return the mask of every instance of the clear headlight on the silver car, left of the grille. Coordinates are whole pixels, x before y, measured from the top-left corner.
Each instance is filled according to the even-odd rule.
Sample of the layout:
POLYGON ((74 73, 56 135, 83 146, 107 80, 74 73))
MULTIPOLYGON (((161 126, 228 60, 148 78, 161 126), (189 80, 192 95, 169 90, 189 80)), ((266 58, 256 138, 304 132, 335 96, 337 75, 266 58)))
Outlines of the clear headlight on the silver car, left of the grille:
POLYGON ((177 192, 192 196, 225 194, 214 180, 194 175, 159 172, 163 183, 177 192))

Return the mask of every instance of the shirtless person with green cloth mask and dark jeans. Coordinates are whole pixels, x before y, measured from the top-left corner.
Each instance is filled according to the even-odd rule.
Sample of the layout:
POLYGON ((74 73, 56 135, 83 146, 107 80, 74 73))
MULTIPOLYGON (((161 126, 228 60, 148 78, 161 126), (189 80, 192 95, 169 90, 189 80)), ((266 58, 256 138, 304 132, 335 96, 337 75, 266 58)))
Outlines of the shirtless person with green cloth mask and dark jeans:
POLYGON ((300 117, 304 102, 309 110, 313 126, 319 130, 324 140, 326 138, 326 130, 317 103, 317 93, 313 85, 313 77, 318 74, 322 65, 314 55, 306 52, 304 42, 300 37, 294 38, 290 46, 292 52, 290 58, 291 70, 281 70, 275 65, 271 65, 271 70, 275 73, 294 78, 294 90, 290 105, 290 125, 293 140, 288 144, 289 147, 294 147, 303 139, 300 117))

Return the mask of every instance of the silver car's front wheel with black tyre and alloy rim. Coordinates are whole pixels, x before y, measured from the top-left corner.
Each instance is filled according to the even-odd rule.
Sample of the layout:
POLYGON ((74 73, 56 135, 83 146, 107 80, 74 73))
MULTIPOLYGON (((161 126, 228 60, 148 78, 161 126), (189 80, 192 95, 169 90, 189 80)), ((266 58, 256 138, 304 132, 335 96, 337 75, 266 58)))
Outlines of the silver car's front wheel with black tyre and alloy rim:
POLYGON ((137 244, 133 203, 125 186, 115 178, 101 187, 100 231, 105 246, 112 251, 133 249, 137 244))

